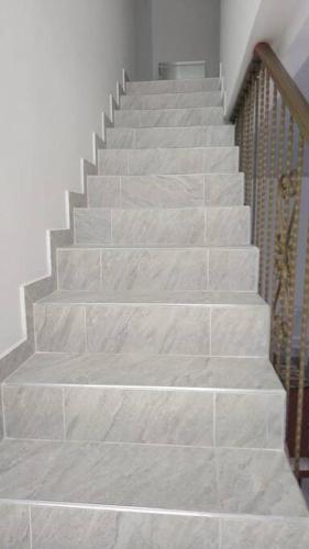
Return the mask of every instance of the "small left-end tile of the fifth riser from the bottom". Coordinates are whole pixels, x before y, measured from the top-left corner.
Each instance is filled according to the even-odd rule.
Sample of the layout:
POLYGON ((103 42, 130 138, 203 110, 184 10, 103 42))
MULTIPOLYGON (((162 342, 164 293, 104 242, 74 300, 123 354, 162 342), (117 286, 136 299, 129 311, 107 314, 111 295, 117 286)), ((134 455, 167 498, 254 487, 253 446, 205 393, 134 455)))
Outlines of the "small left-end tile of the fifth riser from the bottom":
POLYGON ((110 210, 79 208, 75 211, 75 242, 108 244, 111 240, 110 210))

